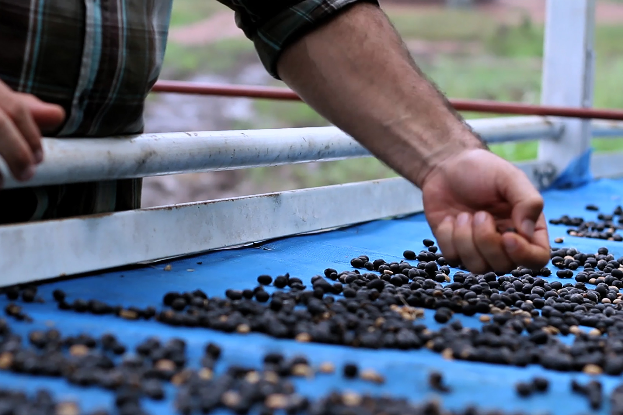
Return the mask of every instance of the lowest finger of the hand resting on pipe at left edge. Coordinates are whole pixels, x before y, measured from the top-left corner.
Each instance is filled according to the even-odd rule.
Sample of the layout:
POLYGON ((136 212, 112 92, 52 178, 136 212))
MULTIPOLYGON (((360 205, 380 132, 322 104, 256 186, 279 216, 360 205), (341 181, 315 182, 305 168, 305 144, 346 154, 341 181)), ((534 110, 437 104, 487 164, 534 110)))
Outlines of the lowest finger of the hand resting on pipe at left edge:
POLYGON ((34 174, 34 158, 26 140, 8 114, 0 110, 0 156, 17 180, 28 180, 34 174))

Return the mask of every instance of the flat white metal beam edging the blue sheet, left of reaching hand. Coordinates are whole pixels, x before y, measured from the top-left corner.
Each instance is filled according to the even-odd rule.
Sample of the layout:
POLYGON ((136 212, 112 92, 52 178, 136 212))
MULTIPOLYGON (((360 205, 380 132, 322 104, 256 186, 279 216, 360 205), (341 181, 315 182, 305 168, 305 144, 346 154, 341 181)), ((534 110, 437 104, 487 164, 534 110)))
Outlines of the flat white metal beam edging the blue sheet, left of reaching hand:
POLYGON ((0 226, 0 286, 422 210, 402 178, 0 226))

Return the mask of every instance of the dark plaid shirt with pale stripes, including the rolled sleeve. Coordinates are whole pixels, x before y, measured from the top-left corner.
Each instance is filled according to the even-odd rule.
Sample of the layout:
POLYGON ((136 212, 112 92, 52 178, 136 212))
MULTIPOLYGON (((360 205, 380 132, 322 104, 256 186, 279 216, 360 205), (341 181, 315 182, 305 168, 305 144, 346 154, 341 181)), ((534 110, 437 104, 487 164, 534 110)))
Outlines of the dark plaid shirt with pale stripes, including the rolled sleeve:
MULTIPOLYGON (((213 0, 196 0, 213 1, 213 0)), ((219 0, 235 11, 270 74, 282 50, 358 1, 219 0)), ((0 79, 65 109, 57 137, 143 131, 172 0, 0 0, 0 79)), ((140 207, 140 180, 0 191, 0 223, 140 207)))

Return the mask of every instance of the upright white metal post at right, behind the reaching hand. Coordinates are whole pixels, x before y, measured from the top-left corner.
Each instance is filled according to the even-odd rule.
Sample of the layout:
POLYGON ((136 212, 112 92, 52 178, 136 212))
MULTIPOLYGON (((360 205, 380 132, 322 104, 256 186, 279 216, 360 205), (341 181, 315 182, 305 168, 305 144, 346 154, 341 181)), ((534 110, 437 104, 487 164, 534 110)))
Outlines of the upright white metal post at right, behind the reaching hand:
MULTIPOLYGON (((547 1, 542 105, 592 106, 594 26, 595 0, 547 1)), ((581 156, 591 146, 591 124, 581 119, 560 120, 563 134, 556 140, 541 141, 538 159, 550 164, 558 176, 557 184, 564 185, 571 183, 564 183, 561 174, 572 166, 575 177, 588 171, 588 156, 581 156)))

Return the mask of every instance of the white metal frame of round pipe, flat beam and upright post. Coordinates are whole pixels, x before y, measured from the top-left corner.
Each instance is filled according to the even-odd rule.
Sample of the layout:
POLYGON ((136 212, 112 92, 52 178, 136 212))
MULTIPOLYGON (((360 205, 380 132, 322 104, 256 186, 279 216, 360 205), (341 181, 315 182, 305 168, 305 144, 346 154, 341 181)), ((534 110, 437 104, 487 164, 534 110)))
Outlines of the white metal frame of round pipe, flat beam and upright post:
MULTIPOLYGON (((548 105, 590 106, 594 0, 548 0, 543 95, 548 105)), ((623 136, 623 123, 536 116, 469 121, 487 142, 539 140, 535 161, 518 164, 543 189, 589 147, 623 136)), ((27 184, 278 166, 368 157, 333 127, 44 139, 45 162, 27 184)), ((623 153, 592 156, 597 177, 623 175, 623 153)), ((267 195, 184 203, 63 220, 0 226, 0 285, 198 253, 422 211, 404 179, 373 180, 267 195)))

